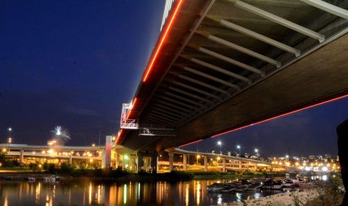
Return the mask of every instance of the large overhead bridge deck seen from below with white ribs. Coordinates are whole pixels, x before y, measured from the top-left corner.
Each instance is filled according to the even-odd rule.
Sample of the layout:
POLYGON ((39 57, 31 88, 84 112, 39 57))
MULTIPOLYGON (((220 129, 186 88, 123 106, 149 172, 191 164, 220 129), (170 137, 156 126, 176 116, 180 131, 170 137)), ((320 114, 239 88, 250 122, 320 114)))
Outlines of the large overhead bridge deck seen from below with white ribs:
POLYGON ((348 1, 330 2, 167 1, 116 144, 155 158, 347 97, 348 1))

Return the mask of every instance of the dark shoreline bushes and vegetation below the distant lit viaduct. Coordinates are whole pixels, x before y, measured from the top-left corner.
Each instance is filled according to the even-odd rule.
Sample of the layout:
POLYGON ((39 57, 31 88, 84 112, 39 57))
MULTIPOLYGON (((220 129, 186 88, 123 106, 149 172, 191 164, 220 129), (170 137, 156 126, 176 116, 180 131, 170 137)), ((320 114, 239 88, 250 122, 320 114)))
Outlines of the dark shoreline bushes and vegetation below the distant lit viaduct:
POLYGON ((237 173, 229 172, 200 172, 200 171, 171 171, 168 173, 131 173, 122 170, 122 168, 75 168, 69 164, 63 163, 60 167, 55 164, 29 165, 29 168, 1 168, 1 179, 11 177, 11 180, 24 180, 24 177, 40 177, 47 175, 60 175, 62 180, 97 180, 103 182, 180 182, 188 180, 221 180, 249 177, 281 177, 285 173, 264 173, 257 171, 244 171, 237 173))

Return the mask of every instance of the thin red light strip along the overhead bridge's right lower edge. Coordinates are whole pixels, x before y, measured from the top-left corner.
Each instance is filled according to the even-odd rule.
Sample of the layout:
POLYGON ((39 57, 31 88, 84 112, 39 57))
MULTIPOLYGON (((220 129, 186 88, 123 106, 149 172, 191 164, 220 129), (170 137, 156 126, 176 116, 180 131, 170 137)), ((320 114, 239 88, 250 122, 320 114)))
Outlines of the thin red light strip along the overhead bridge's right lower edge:
MULTIPOLYGON (((253 125, 258 125, 258 124, 261 124, 262 122, 267 122, 267 121, 269 121, 269 120, 274 120, 274 119, 276 119, 276 118, 280 118, 280 117, 283 117, 283 116, 287 116, 287 115, 289 115, 289 114, 296 113, 296 112, 298 112, 298 111, 303 111, 303 110, 305 110, 305 109, 310 109, 310 108, 315 107, 315 106, 319 106, 319 105, 322 105, 322 104, 326 104, 326 103, 329 103, 329 102, 333 102, 333 101, 335 101, 335 100, 340 100, 340 99, 343 99, 343 98, 345 98, 345 97, 348 97, 348 95, 343 95, 343 96, 340 96, 340 97, 335 97, 335 98, 333 98, 333 99, 331 99, 331 100, 326 100, 326 101, 324 101, 324 102, 320 102, 320 103, 317 103, 317 104, 313 104, 313 105, 310 105, 310 106, 303 107, 302 109, 296 109, 296 110, 294 110, 294 111, 290 111, 290 112, 287 112, 287 113, 283 113, 283 114, 281 114, 281 115, 279 115, 279 116, 275 116, 275 117, 273 117, 273 118, 268 118, 268 119, 266 119, 266 120, 261 120, 261 121, 259 121, 259 122, 255 122, 255 123, 250 124, 250 125, 245 125, 245 126, 242 126, 242 127, 238 127, 238 128, 236 128, 236 129, 231 129, 231 130, 229 130, 229 131, 227 131, 227 132, 222 132, 222 133, 220 133, 220 134, 215 134, 214 136, 212 136, 212 138, 214 138, 214 137, 216 137, 216 136, 220 136, 220 135, 222 135, 222 134, 227 134, 227 133, 229 133, 229 132, 234 132, 234 131, 239 130, 239 129, 244 129, 244 128, 246 128, 246 127, 250 127, 250 126, 253 126, 253 125)), ((193 144, 193 143, 197 143, 197 142, 199 142, 199 141, 203 141, 203 139, 200 139, 200 140, 198 140, 198 141, 194 141, 194 142, 191 142, 191 143, 187 143, 187 144, 181 145, 181 146, 179 146, 179 148, 184 147, 184 146, 186 146, 186 145, 193 144)))

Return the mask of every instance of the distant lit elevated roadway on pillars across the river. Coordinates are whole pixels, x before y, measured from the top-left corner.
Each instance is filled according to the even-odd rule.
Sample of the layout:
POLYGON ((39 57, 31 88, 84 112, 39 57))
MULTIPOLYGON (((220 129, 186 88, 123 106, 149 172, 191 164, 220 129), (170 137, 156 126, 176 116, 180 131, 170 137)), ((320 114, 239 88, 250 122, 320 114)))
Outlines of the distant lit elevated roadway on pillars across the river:
MULTIPOLYGON (((107 138, 106 138, 107 140, 107 138)), ((271 169, 273 171, 284 171, 287 167, 285 165, 272 164, 271 162, 258 161, 255 159, 246 159, 240 157, 234 157, 224 154, 212 154, 208 152, 192 152, 188 150, 181 150, 175 148, 168 151, 168 161, 157 161, 157 158, 144 159, 142 154, 137 154, 134 150, 124 148, 121 145, 113 145, 109 161, 107 162, 106 147, 90 147, 90 146, 52 146, 52 145, 24 145, 24 144, 0 144, 1 150, 6 154, 6 157, 12 159, 18 159, 21 165, 28 165, 30 162, 53 162, 55 164, 61 164, 61 162, 67 162, 77 165, 84 164, 100 164, 102 167, 122 167, 128 171, 157 171, 161 166, 168 166, 168 170, 173 169, 187 171, 189 168, 189 156, 193 155, 196 159, 204 159, 203 166, 194 165, 195 170, 209 171, 245 171, 248 169, 271 169), (174 154, 179 154, 180 161, 174 161, 174 154), (154 161, 155 160, 155 161, 154 161), (139 162, 143 161, 139 168, 139 162), (215 163, 214 166, 209 166, 215 163)), ((146 155, 145 155, 146 156, 146 155)), ((192 166, 191 166, 192 167, 192 166)), ((164 170, 164 171, 168 171, 164 170)), ((162 170, 163 171, 163 170, 162 170)))

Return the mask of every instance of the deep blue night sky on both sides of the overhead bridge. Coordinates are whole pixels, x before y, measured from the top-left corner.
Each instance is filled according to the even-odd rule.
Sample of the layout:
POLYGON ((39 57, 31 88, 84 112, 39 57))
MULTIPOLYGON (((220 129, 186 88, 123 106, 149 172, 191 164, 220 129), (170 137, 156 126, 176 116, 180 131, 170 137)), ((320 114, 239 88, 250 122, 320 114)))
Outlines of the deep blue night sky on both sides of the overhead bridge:
MULTIPOLYGON (((164 1, 3 1, 0 6, 0 141, 45 145, 56 125, 68 145, 118 132, 159 35, 164 1)), ((185 148, 242 145, 263 155, 337 153, 348 99, 209 138, 185 148)))

